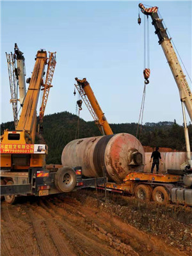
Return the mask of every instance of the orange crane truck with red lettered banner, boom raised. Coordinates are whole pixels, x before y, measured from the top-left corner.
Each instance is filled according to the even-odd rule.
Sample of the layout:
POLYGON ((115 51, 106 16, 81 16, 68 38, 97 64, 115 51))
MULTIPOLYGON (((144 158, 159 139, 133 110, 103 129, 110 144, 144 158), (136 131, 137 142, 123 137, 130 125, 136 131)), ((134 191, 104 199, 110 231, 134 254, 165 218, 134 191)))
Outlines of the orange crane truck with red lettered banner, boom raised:
MULTIPOLYGON (((1 136, 1 199, 4 196, 10 204, 13 204, 20 195, 45 196, 69 192, 93 184, 99 185, 106 180, 104 177, 83 179, 81 166, 46 167, 48 147, 44 144, 35 144, 36 107, 40 89, 42 86, 45 90, 50 88, 49 81, 52 80, 54 71, 52 65, 48 65, 47 77, 50 80, 44 84, 44 69, 47 60, 48 63, 52 63, 50 58, 54 58, 55 62, 54 54, 47 58, 46 51, 37 52, 17 127, 14 131, 6 129, 1 136)), ((47 97, 43 102, 44 107, 46 101, 47 97)), ((42 116, 44 110, 45 108, 42 109, 42 116)))

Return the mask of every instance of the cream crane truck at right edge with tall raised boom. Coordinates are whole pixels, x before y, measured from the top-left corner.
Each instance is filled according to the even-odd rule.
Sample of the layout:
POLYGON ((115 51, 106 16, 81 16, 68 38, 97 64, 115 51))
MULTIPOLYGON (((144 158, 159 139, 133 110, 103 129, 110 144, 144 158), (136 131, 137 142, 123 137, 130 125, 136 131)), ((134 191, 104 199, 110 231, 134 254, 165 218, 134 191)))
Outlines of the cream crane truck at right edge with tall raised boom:
POLYGON ((170 66, 173 77, 179 89, 180 101, 182 104, 182 115, 184 120, 184 135, 186 140, 186 151, 187 151, 187 161, 183 168, 183 171, 180 170, 168 170, 168 173, 181 175, 180 186, 172 188, 171 199, 172 202, 186 203, 192 205, 192 163, 191 163, 191 150, 189 145, 189 134, 188 127, 186 124, 186 113, 185 108, 188 111, 189 117, 192 121, 192 94, 186 80, 186 76, 180 66, 177 54, 172 45, 172 38, 169 38, 167 29, 164 27, 163 19, 160 19, 158 14, 158 7, 145 8, 143 4, 139 4, 139 8, 144 15, 151 17, 152 25, 154 25, 155 33, 159 38, 159 44, 161 45, 166 60, 170 66))

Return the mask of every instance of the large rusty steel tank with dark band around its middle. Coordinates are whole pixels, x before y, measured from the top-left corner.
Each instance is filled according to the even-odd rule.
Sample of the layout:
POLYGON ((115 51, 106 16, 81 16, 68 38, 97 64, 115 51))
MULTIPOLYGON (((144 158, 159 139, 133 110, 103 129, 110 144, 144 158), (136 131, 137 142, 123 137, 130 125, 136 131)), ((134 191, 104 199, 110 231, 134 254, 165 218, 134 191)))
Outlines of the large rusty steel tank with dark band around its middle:
POLYGON ((130 172, 143 172, 145 153, 139 140, 127 133, 73 140, 63 149, 63 166, 81 166, 85 177, 122 182, 130 172))

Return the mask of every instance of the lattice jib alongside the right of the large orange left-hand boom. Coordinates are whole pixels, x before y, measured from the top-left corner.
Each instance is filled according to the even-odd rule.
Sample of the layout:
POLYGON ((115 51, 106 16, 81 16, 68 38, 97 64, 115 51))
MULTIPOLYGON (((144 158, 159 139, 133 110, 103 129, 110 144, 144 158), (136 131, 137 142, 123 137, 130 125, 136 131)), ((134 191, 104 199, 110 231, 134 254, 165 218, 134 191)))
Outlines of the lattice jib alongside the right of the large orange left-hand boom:
POLYGON ((47 74, 45 78, 45 84, 42 86, 44 87, 42 90, 44 91, 43 97, 42 97, 42 104, 40 107, 40 122, 43 122, 44 118, 44 113, 45 113, 45 107, 47 104, 47 99, 49 96, 49 90, 52 87, 52 77, 54 74, 54 68, 56 66, 56 52, 49 52, 49 62, 48 62, 48 67, 47 67, 47 74))

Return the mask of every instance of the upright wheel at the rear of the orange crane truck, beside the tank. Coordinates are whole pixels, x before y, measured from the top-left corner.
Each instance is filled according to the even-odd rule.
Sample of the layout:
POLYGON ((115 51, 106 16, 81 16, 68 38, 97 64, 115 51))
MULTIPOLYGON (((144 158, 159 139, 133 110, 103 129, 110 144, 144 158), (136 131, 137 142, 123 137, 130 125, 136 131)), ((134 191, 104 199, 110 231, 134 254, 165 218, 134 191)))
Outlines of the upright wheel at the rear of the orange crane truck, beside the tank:
POLYGON ((54 184, 61 192, 72 191, 77 183, 75 171, 70 167, 60 168, 55 175, 54 184))

